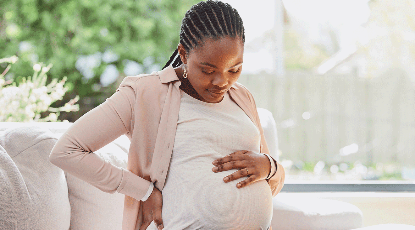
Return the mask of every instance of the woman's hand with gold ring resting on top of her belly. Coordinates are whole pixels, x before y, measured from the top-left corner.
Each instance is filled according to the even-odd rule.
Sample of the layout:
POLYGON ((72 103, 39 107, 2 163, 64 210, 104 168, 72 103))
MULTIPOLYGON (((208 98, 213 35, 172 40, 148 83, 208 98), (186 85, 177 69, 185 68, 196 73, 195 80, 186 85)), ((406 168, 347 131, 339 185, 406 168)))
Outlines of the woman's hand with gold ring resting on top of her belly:
POLYGON ((262 153, 254 153, 252 151, 237 151, 213 161, 212 164, 216 165, 212 168, 212 171, 215 173, 229 169, 239 169, 223 178, 224 182, 230 182, 248 176, 246 180, 237 184, 238 188, 265 179, 271 171, 269 158, 262 153))

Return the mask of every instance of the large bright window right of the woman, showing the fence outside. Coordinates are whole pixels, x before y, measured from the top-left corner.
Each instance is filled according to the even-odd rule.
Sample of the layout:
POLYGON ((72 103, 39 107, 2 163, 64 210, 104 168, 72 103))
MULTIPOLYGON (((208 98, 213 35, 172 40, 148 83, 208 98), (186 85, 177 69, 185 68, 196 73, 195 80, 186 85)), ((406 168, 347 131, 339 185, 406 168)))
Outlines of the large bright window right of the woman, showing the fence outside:
POLYGON ((246 31, 239 82, 273 113, 289 187, 414 191, 410 1, 227 2, 246 31))

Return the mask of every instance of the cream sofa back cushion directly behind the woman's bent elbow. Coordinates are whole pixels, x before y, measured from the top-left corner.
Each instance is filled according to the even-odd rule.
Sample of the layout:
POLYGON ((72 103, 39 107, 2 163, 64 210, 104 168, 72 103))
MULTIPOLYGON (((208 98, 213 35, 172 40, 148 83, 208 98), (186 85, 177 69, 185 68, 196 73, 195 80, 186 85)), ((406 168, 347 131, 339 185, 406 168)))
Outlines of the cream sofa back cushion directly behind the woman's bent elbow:
MULTIPOLYGON (((118 167, 127 168, 129 143, 123 135, 95 153, 118 167)), ((69 173, 66 180, 71 203, 70 230, 121 230, 123 194, 103 192, 69 173)))

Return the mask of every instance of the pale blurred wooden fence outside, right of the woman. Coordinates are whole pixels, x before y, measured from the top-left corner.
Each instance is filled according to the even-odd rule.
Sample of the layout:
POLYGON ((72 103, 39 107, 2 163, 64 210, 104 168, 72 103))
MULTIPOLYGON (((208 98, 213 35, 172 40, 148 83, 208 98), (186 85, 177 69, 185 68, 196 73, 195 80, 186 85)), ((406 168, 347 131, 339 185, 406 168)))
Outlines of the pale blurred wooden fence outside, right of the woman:
POLYGON ((371 79, 256 74, 239 82, 273 113, 280 159, 415 165, 415 84, 403 72, 371 79))

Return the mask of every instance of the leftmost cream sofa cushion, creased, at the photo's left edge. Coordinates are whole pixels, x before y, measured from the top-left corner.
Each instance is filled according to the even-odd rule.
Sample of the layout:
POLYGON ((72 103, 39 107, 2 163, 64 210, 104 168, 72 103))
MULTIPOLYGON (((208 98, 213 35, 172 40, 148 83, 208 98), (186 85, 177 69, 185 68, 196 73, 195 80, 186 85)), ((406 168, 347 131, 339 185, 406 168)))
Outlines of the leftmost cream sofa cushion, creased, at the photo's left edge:
POLYGON ((0 132, 0 230, 68 230, 71 206, 63 171, 49 162, 49 130, 0 132))

